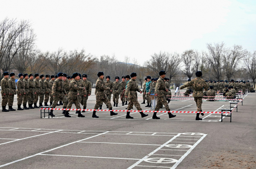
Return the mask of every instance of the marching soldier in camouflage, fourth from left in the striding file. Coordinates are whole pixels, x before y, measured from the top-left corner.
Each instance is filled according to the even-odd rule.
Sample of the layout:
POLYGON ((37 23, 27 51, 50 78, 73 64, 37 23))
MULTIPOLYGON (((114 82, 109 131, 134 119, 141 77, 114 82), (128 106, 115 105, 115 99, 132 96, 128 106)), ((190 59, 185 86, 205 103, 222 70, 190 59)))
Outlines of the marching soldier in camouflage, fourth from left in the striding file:
MULTIPOLYGON (((140 107, 140 103, 138 102, 137 92, 142 93, 142 91, 137 86, 136 79, 137 79, 137 74, 131 73, 131 80, 129 80, 127 87, 125 89, 125 97, 127 98, 129 96, 129 98, 130 98, 127 110, 131 110, 131 108, 134 105, 137 108, 137 110, 141 111, 142 108, 140 107)), ((148 116, 147 114, 144 114, 143 112, 140 112, 140 115, 141 115, 141 118, 148 116)), ((129 111, 126 113, 126 118, 133 118, 130 116, 129 111)))

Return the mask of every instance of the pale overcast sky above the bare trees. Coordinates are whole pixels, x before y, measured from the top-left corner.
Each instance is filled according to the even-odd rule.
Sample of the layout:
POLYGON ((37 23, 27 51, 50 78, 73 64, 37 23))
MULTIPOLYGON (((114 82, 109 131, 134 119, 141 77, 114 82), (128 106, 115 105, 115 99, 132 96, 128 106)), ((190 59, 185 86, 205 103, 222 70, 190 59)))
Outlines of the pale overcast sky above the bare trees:
POLYGON ((224 42, 256 51, 256 0, 0 0, 0 20, 30 20, 42 51, 84 48, 143 65, 159 51, 224 42))

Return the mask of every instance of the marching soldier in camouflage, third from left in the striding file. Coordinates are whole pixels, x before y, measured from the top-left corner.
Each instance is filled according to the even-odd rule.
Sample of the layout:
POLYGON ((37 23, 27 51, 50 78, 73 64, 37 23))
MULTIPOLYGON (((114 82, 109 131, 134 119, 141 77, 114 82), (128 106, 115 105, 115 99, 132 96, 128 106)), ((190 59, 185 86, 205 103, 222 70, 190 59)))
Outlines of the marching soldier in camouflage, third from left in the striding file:
MULTIPOLYGON (((98 80, 96 81, 96 90, 97 90, 97 93, 96 93, 96 104, 94 106, 94 110, 97 110, 100 106, 100 104, 102 102, 104 102, 107 106, 108 106, 108 109, 109 110, 112 110, 112 105, 110 103, 110 101, 108 100, 108 98, 106 98, 105 96, 105 93, 104 91, 105 90, 110 90, 109 87, 106 87, 104 85, 104 82, 103 82, 103 79, 104 79, 104 73, 103 72, 99 72, 97 74, 97 76, 99 77, 98 80)), ((117 115, 117 113, 114 113, 113 111, 110 112, 110 115, 117 115)), ((93 115, 92 115, 93 118, 99 118, 97 115, 96 115, 96 111, 93 111, 93 115)))

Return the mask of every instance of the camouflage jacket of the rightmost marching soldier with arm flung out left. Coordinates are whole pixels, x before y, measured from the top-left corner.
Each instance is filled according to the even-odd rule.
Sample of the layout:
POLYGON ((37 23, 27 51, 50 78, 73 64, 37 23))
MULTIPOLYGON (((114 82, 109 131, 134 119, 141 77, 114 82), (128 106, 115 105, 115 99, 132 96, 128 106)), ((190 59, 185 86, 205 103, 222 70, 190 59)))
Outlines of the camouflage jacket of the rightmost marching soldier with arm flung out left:
POLYGON ((195 79, 192 79, 190 82, 182 85, 180 89, 188 86, 194 87, 193 97, 203 97, 203 88, 208 89, 207 83, 201 77, 196 77, 195 79))

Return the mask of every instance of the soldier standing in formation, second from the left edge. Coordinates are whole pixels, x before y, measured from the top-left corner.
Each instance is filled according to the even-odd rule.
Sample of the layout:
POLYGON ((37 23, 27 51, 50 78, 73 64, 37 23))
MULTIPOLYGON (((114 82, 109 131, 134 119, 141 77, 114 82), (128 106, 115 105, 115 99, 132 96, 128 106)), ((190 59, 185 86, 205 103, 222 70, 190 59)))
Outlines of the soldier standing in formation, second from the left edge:
POLYGON ((15 73, 10 73, 10 79, 8 81, 9 83, 9 97, 8 97, 8 106, 9 111, 15 111, 15 109, 12 108, 13 101, 14 101, 14 95, 16 95, 16 86, 15 86, 15 73))

